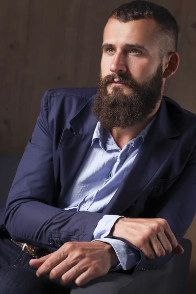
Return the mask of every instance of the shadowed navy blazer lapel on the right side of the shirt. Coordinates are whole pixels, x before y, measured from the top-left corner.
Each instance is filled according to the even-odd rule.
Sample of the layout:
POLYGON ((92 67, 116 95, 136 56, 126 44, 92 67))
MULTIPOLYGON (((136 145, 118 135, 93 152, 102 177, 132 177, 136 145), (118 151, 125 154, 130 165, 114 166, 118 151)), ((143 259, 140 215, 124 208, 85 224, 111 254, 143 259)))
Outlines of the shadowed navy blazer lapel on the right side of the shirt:
POLYGON ((151 125, 131 170, 119 189, 103 210, 105 214, 121 214, 139 197, 146 193, 149 185, 161 175, 175 150, 179 135, 168 114, 165 99, 162 99, 157 116, 151 125))

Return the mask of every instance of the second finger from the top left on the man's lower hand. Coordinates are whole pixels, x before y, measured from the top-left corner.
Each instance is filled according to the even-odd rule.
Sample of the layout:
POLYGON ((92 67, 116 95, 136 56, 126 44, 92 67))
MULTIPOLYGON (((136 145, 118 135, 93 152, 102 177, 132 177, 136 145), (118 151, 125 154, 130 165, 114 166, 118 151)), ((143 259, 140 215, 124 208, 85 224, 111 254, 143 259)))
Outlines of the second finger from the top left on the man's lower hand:
POLYGON ((41 277, 49 273, 53 268, 55 268, 59 263, 65 260, 68 253, 65 250, 57 250, 50 255, 50 257, 39 267, 37 270, 37 276, 41 277))

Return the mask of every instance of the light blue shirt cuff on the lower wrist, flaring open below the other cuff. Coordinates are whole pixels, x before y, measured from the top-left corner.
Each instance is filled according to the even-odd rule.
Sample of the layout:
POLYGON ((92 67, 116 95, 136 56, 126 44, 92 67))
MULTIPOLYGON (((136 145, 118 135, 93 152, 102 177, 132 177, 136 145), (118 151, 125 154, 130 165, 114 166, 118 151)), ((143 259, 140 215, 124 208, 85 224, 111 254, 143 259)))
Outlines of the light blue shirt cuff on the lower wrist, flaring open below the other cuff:
POLYGON ((114 248, 120 263, 115 268, 110 269, 111 271, 122 270, 122 269, 130 270, 134 266, 136 266, 138 262, 140 261, 140 257, 137 254, 136 250, 134 250, 133 248, 131 248, 129 245, 127 245, 121 240, 111 239, 111 238, 101 238, 101 239, 93 240, 93 241, 101 241, 104 243, 108 243, 114 248))

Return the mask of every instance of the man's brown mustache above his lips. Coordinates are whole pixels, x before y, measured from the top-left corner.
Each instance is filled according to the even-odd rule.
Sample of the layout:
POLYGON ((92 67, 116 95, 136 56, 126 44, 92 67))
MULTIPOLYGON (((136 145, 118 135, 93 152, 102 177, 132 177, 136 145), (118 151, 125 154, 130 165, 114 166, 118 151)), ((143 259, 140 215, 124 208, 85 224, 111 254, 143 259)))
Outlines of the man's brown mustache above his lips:
POLYGON ((115 73, 108 74, 105 77, 100 77, 99 85, 105 87, 108 84, 115 83, 115 80, 118 80, 118 83, 127 85, 130 88, 134 88, 136 86, 136 82, 132 77, 115 73))

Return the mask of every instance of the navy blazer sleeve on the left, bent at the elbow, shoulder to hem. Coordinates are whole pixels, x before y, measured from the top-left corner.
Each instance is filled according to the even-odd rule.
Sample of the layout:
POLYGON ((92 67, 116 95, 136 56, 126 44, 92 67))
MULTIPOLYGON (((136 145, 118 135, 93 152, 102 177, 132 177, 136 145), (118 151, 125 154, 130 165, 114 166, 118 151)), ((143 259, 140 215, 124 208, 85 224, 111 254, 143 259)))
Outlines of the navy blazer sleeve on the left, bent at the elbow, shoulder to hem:
POLYGON ((48 100, 46 92, 8 195, 4 226, 14 240, 53 252, 68 241, 92 240, 103 214, 71 212, 52 206, 55 183, 48 100))

